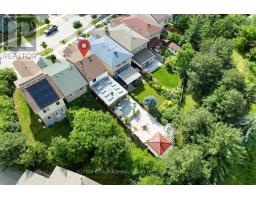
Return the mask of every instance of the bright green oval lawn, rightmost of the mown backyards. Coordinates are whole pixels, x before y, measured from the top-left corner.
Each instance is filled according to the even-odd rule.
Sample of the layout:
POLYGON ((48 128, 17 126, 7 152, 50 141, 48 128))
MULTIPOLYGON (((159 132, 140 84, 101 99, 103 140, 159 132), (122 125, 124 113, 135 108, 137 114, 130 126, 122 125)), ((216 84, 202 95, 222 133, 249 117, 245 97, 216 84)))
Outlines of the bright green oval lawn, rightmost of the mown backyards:
POLYGON ((180 83, 179 76, 169 73, 164 67, 158 68, 152 75, 167 88, 176 88, 180 83))

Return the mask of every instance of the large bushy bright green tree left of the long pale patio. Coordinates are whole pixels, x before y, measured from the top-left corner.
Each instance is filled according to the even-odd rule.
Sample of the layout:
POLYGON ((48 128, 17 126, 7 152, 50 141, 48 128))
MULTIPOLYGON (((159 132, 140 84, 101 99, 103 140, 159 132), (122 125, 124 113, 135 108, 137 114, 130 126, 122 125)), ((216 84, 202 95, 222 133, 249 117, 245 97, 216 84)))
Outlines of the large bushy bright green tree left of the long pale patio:
POLYGON ((79 144, 76 153, 89 155, 94 169, 112 170, 125 166, 129 147, 123 129, 109 114, 81 109, 74 115, 70 141, 79 144))

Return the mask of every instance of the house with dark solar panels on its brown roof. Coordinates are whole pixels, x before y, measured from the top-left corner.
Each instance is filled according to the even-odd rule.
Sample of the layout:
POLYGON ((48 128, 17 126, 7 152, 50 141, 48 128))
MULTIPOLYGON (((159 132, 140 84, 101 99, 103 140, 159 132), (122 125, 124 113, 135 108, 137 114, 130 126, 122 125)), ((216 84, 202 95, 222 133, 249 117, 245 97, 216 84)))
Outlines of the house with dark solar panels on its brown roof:
POLYGON ((66 117, 63 95, 51 77, 34 61, 16 60, 13 65, 19 77, 15 85, 34 113, 47 126, 63 120, 66 117))

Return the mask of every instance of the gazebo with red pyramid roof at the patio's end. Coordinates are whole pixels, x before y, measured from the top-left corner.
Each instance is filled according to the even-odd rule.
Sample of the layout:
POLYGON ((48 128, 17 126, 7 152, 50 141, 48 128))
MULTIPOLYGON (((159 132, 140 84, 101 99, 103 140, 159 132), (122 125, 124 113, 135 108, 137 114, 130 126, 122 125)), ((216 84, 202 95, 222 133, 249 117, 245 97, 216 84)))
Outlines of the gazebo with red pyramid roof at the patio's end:
POLYGON ((171 142, 158 132, 148 141, 148 146, 154 151, 154 154, 157 153, 158 156, 161 156, 171 146, 171 142))

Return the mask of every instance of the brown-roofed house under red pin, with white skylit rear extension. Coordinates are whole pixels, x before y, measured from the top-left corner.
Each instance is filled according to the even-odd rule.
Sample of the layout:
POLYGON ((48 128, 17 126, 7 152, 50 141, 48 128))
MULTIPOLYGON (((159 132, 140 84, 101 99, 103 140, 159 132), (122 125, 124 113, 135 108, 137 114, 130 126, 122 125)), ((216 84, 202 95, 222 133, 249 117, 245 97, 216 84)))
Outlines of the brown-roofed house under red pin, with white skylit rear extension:
POLYGON ((128 94, 119 83, 108 75, 107 65, 92 51, 88 51, 87 55, 83 57, 79 50, 72 46, 64 50, 64 56, 77 67, 89 82, 92 91, 108 107, 112 107, 117 101, 128 94))

